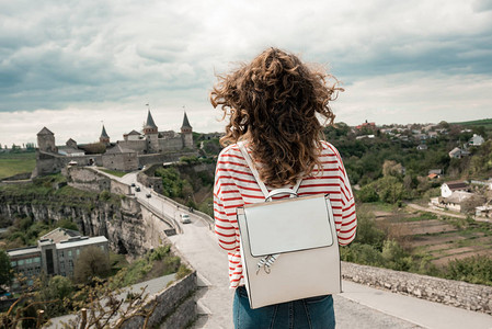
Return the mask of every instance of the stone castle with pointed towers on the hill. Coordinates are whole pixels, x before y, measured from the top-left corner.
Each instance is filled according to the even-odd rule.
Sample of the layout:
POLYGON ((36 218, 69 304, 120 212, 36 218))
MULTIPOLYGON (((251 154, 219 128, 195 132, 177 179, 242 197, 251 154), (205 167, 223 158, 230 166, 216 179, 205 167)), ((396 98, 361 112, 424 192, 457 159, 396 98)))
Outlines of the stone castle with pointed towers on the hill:
POLYGON ((56 146, 55 134, 43 127, 37 133, 36 168, 33 177, 59 172, 67 164, 100 166, 107 169, 133 171, 142 166, 176 161, 183 156, 196 156, 193 128, 186 112, 181 133, 159 132, 150 110, 142 133, 131 131, 123 140, 111 143, 102 127, 99 144, 78 145, 69 138, 65 146, 56 146))

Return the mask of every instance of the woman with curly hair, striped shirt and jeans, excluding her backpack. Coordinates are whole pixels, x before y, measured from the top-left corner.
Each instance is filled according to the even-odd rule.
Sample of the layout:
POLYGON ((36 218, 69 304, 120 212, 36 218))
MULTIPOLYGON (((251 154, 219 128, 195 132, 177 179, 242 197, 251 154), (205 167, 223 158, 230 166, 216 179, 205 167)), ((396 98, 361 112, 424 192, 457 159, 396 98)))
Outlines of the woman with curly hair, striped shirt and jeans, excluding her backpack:
POLYGON ((219 77, 210 93, 214 107, 229 117, 220 139, 227 147, 217 161, 214 215, 219 246, 228 251, 230 287, 236 290, 234 328, 334 328, 331 295, 250 308, 236 218, 237 207, 264 201, 238 147, 243 141, 268 191, 302 179, 298 196, 329 194, 339 243, 354 239, 357 223, 348 178, 339 151, 322 138, 320 120, 333 123, 329 102, 343 91, 332 78, 293 54, 268 48, 219 77))

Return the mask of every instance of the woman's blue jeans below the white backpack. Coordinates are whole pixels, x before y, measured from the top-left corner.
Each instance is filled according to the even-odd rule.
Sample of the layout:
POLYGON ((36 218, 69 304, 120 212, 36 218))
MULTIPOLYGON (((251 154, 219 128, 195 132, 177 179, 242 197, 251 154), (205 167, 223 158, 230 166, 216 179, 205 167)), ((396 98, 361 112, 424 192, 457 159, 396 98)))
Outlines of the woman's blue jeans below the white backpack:
POLYGON ((232 311, 236 329, 335 328, 331 295, 251 309, 247 290, 240 286, 236 288, 232 311))

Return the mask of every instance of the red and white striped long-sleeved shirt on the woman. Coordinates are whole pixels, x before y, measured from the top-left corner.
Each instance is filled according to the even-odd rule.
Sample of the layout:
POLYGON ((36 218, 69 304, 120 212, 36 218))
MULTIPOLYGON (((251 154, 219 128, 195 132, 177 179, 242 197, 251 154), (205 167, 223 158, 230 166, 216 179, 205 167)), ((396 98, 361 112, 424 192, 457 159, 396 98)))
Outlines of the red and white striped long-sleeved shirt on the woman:
MULTIPOLYGON (((320 155, 322 170, 314 170, 302 179, 298 196, 329 194, 333 207, 339 245, 348 245, 355 238, 357 219, 351 183, 342 158, 333 145, 322 141, 320 155)), ((266 186, 268 192, 272 191, 266 186)), ((288 195, 274 198, 288 197, 288 195)), ((242 285, 242 263, 236 208, 264 201, 237 144, 226 147, 219 155, 215 171, 214 216, 219 246, 228 251, 230 287, 242 285)))

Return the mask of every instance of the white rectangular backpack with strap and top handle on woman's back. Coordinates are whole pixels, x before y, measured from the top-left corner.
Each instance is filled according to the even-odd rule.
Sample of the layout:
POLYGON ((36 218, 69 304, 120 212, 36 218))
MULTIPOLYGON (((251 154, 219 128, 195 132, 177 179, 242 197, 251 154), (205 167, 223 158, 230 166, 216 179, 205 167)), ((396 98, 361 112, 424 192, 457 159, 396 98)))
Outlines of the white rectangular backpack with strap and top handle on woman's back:
POLYGON ((237 208, 243 276, 251 308, 342 291, 339 241, 328 195, 297 197, 294 189, 268 193, 242 143, 242 156, 265 195, 237 208), (274 195, 291 197, 271 201, 274 195))

